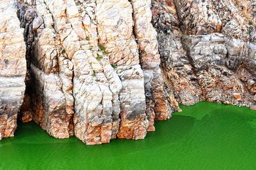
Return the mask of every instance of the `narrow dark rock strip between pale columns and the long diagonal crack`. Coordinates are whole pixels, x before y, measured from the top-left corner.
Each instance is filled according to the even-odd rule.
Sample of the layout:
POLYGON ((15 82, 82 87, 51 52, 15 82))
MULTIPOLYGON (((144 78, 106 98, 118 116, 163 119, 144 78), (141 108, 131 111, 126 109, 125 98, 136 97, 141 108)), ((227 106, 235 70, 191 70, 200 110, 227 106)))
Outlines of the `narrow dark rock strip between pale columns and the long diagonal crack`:
POLYGON ((173 1, 154 1, 152 13, 152 23, 158 33, 163 75, 166 76, 165 92, 169 96, 170 108, 180 111, 178 103, 189 105, 199 101, 200 88, 182 46, 182 32, 175 4, 173 1))

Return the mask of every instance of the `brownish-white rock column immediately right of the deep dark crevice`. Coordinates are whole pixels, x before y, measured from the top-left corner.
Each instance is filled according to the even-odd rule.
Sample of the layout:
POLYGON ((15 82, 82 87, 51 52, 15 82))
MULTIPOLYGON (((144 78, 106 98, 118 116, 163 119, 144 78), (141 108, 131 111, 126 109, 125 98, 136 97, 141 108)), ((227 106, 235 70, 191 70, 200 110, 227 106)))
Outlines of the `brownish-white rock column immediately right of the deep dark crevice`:
MULTIPOLYGON (((73 64, 61 53, 60 36, 45 4, 19 7, 27 45, 26 92, 31 99, 33 120, 55 138, 68 138, 74 133, 73 64)), ((23 111, 22 117, 26 113, 29 115, 29 111, 23 111)))

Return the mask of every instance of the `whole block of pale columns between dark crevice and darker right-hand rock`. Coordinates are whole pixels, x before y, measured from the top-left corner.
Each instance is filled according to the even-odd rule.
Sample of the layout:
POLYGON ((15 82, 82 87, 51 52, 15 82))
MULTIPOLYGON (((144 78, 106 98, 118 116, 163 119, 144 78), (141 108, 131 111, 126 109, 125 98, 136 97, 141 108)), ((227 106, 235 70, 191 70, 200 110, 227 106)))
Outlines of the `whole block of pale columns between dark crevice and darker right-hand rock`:
POLYGON ((28 73, 20 120, 87 145, 143 139, 170 118, 151 1, 19 1, 28 73))

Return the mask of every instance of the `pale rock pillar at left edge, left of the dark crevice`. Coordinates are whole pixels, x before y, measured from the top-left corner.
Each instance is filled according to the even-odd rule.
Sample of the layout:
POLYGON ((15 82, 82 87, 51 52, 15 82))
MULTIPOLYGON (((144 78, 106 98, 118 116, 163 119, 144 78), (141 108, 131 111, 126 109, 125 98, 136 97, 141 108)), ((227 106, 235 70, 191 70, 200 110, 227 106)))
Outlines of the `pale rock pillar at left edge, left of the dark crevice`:
POLYGON ((13 1, 0 1, 0 140, 13 136, 22 104, 26 46, 13 1))

